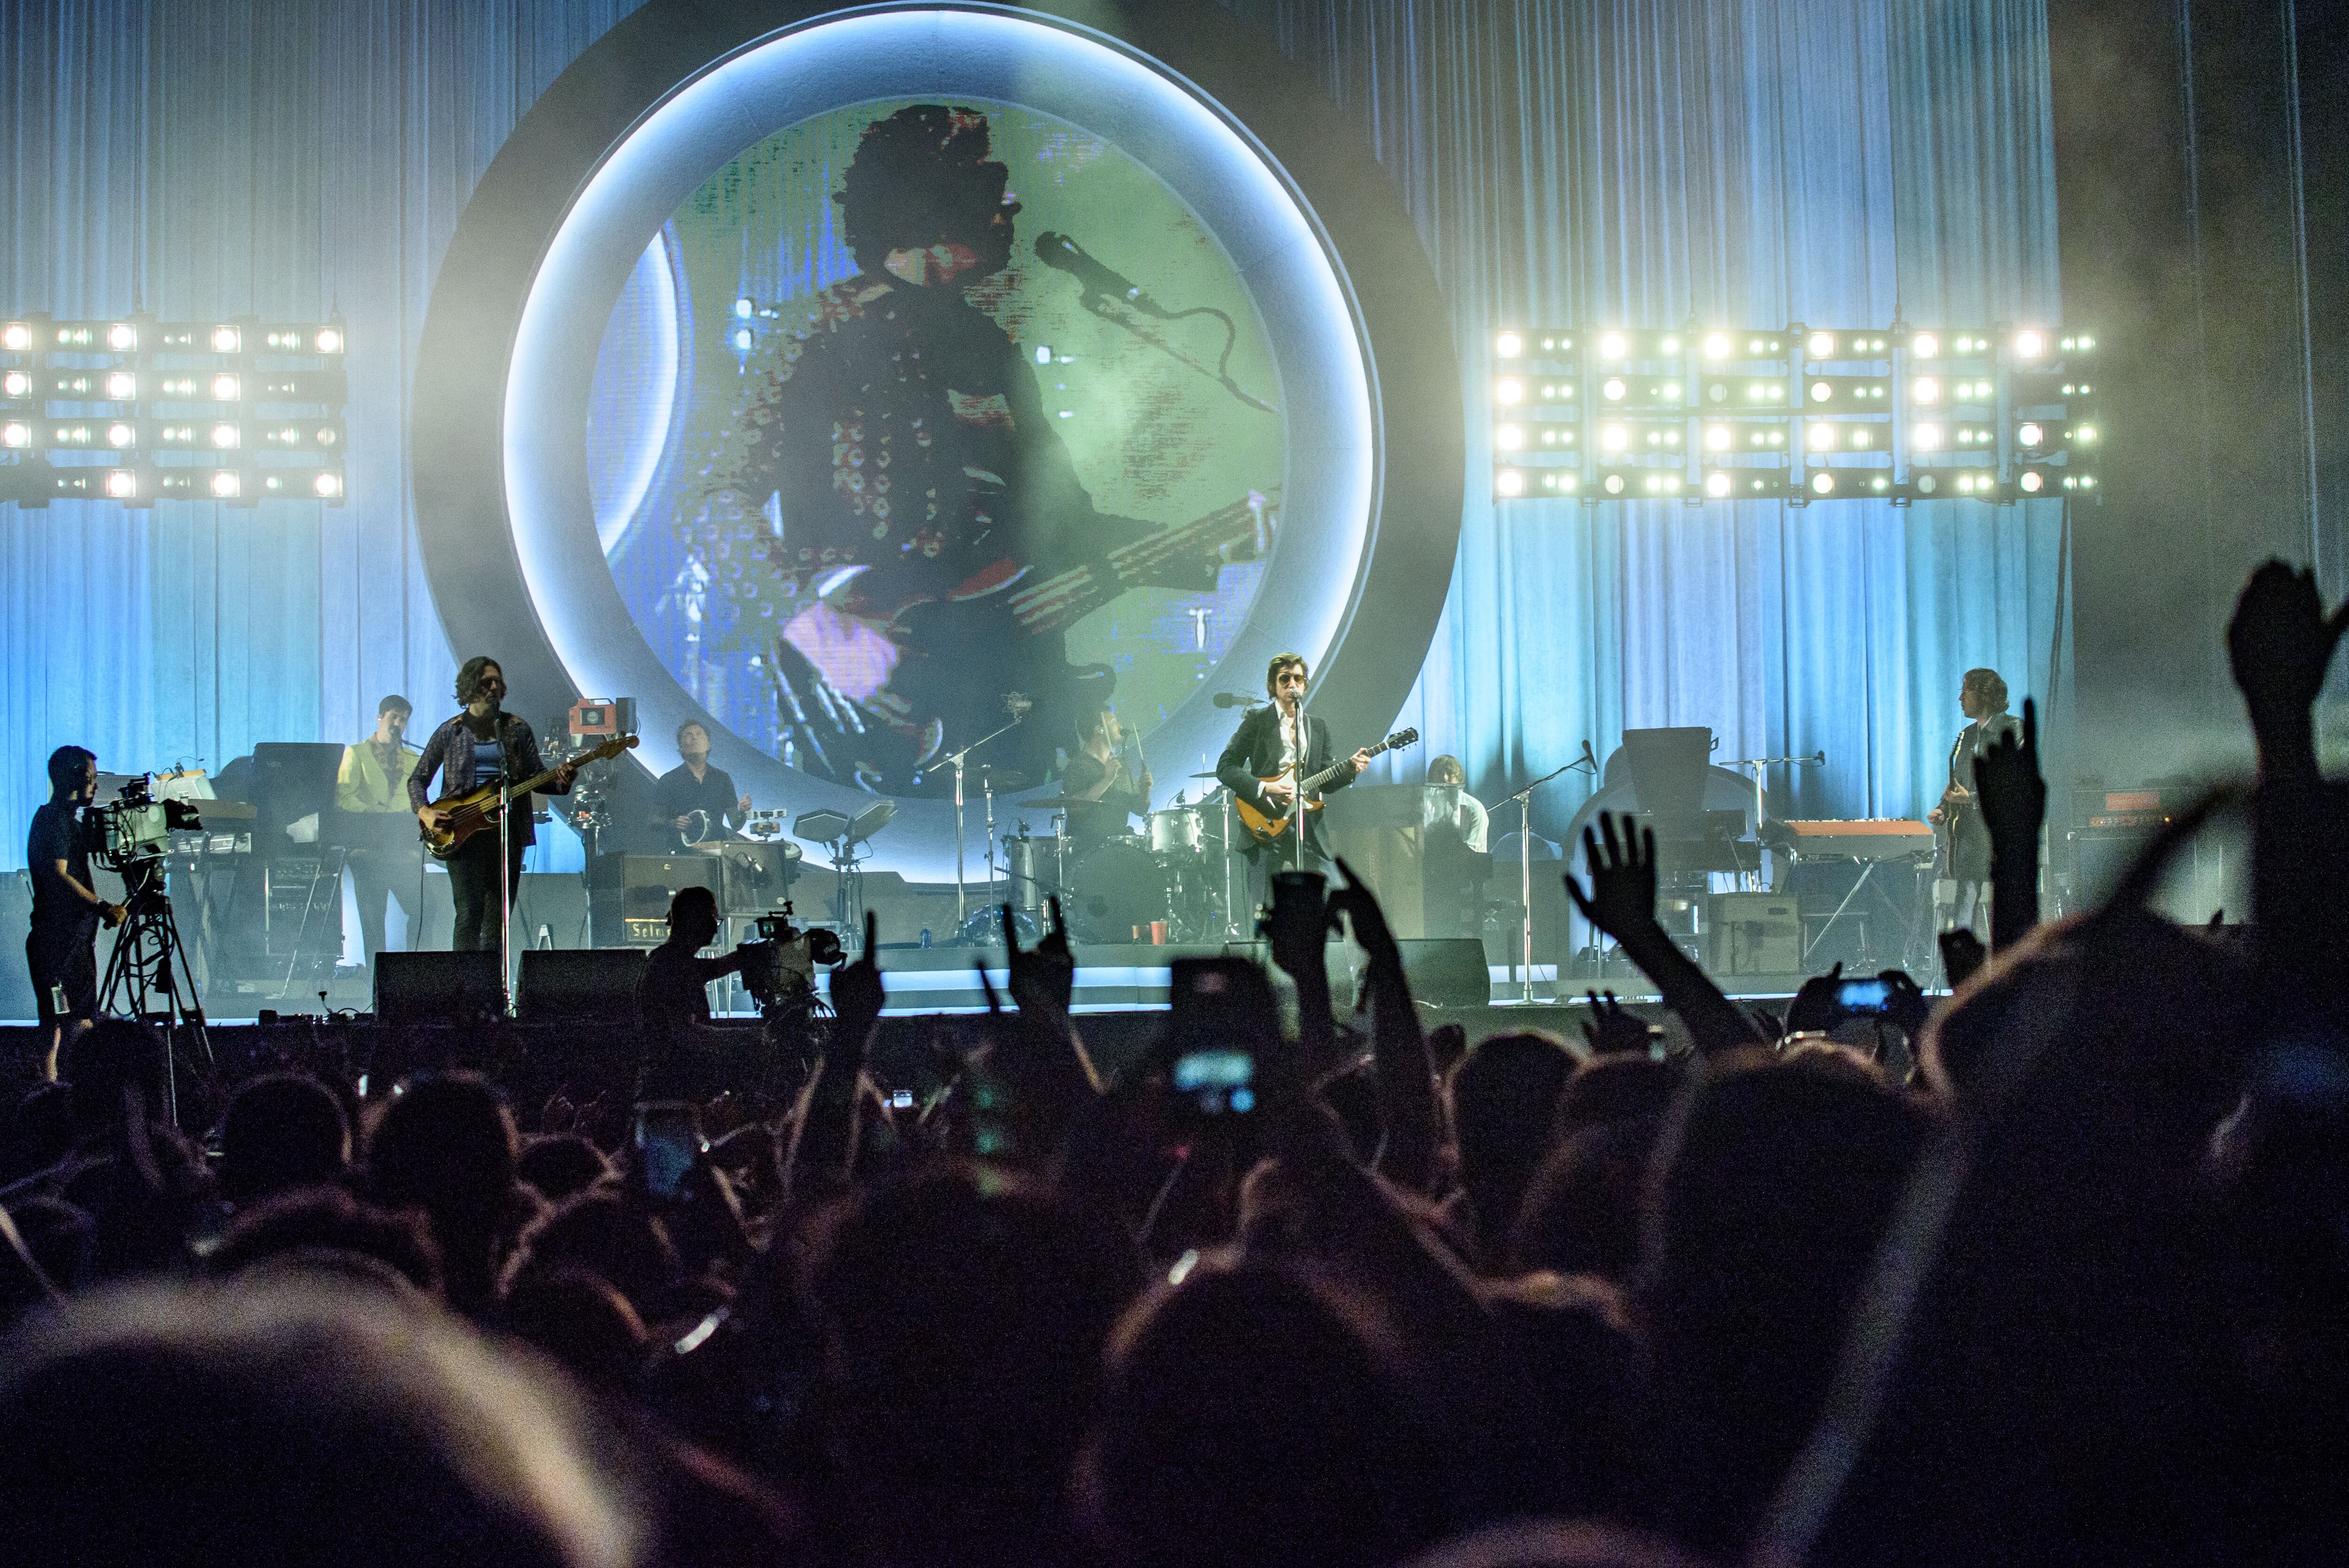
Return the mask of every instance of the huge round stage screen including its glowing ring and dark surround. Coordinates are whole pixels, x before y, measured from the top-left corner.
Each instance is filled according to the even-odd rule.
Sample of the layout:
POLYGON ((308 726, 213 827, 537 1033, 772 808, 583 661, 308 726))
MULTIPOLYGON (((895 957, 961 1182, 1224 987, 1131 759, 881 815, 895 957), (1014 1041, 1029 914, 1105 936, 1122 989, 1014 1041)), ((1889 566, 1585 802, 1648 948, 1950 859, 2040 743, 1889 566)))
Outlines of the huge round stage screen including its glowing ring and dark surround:
MULTIPOLYGON (((648 54, 723 26, 655 9, 533 108, 435 289, 418 514, 463 653, 512 650, 517 690, 634 697, 653 772, 698 721, 759 807, 895 800, 871 864, 916 880, 954 876, 956 758, 1012 817, 1102 707, 1160 798, 1198 793, 1184 775, 1236 721, 1214 697, 1257 692, 1276 653, 1334 660, 1325 714, 1393 714, 1459 528, 1459 430, 1442 340, 1409 383, 1442 392, 1409 394, 1445 423, 1442 484, 1412 481, 1435 505, 1388 549, 1372 317, 1419 317, 1391 336, 1433 361, 1440 315, 1367 157, 1341 223, 1372 232, 1374 307, 1266 143, 1123 38, 857 7, 712 49, 627 110, 611 89, 641 92, 648 54), (498 331, 496 418, 467 420, 460 354, 498 331), (489 528, 463 488, 484 434, 489 528), (1416 561, 1381 589, 1372 556, 1416 561)), ((1327 134, 1290 141, 1334 160, 1327 134)), ((972 854, 982 833, 970 812, 972 854)))

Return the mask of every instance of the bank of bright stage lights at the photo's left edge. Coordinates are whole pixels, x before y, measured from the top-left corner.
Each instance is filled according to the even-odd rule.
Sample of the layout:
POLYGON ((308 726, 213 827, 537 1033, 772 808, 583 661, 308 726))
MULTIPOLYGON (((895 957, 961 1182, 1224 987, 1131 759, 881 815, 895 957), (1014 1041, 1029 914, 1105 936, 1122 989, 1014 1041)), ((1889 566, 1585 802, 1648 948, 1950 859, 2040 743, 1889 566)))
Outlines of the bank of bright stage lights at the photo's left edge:
POLYGON ((345 500, 331 322, 0 317, 0 500, 345 500))

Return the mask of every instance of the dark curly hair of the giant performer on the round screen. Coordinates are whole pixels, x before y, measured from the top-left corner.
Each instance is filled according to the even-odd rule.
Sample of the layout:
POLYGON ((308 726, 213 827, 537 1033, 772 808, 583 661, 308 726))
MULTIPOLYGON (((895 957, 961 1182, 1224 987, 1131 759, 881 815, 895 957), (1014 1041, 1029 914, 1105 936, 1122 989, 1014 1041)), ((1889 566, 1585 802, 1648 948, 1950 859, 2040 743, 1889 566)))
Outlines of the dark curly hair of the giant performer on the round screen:
POLYGON ((890 251, 984 232, 1010 181, 1010 169, 987 153, 987 115, 975 108, 916 103, 867 124, 832 197, 857 265, 879 268, 890 251))

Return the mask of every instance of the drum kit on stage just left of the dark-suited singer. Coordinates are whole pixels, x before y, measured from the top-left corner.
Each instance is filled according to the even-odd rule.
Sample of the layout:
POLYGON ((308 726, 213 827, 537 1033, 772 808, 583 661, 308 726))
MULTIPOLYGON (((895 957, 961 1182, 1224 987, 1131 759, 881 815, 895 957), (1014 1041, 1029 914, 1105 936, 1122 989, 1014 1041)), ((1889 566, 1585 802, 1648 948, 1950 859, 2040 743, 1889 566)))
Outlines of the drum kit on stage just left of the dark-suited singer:
MULTIPOLYGON (((1212 779, 1214 775, 1191 775, 1212 779)), ((1069 934, 1078 941, 1226 941, 1233 925, 1231 793, 1214 789, 1149 812, 1139 833, 1090 843, 1066 836, 1066 810, 1095 805, 1083 796, 1022 800, 1055 812, 1048 833, 1022 822, 1003 836, 1005 904, 1043 922, 1045 901, 1059 897, 1069 934)))

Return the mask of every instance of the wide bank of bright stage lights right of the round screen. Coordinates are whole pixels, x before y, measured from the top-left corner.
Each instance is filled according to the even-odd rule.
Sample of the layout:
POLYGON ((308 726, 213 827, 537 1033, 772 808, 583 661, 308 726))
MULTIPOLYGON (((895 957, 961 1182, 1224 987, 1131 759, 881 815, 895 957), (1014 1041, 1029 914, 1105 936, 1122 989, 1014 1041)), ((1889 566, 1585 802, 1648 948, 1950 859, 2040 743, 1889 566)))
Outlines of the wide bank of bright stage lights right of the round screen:
POLYGON ((1501 326, 1494 500, 2098 498, 2095 338, 2053 326, 1501 326))

